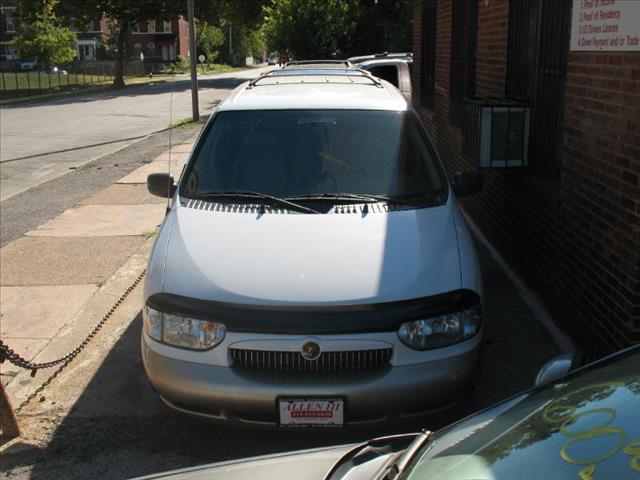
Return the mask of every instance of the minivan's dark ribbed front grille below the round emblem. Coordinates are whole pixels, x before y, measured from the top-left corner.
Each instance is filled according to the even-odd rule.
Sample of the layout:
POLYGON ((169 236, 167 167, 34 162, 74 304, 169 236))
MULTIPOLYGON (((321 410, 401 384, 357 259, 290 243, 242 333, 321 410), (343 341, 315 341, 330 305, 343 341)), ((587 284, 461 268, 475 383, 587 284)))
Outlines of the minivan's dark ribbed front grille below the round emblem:
POLYGON ((247 370, 283 373, 355 372, 375 370, 389 365, 392 348, 322 352, 315 360, 305 359, 300 352, 273 352, 231 348, 233 366, 247 370))

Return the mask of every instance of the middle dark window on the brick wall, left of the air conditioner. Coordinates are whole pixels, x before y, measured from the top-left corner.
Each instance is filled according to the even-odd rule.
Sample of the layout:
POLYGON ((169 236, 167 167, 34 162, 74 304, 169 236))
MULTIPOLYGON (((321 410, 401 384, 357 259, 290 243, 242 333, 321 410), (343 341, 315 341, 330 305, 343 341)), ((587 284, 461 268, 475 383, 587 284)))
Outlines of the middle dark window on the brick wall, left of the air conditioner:
POLYGON ((464 99, 472 97, 476 90, 478 2, 453 0, 451 23, 450 121, 459 127, 464 99))

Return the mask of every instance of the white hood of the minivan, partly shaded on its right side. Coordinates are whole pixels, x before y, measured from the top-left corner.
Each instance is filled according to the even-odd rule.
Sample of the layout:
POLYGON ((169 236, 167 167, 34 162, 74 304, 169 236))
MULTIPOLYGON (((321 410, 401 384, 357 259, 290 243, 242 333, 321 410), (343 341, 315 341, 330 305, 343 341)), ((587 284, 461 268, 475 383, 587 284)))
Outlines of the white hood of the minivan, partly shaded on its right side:
POLYGON ((178 204, 170 213, 162 290, 220 302, 315 305, 456 290, 461 275, 452 209, 447 203, 313 215, 178 204))

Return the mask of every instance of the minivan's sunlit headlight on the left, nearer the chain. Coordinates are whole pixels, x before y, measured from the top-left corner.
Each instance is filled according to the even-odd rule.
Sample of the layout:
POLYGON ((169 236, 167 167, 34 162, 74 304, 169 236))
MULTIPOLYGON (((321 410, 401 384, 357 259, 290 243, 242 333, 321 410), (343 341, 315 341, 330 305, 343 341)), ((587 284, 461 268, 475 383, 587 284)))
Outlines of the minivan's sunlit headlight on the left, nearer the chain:
POLYGON ((218 345, 227 333, 222 323, 172 315, 146 306, 144 331, 154 340, 192 350, 206 350, 218 345))

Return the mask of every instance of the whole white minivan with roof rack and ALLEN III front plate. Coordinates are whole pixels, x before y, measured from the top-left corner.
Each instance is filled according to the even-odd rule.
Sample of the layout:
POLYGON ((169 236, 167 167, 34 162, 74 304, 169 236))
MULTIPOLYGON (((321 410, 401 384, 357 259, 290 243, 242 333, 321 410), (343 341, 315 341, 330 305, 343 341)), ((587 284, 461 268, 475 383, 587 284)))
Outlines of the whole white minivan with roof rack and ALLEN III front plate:
POLYGON ((417 114, 346 63, 238 87, 197 140, 149 259, 142 358, 176 410, 366 426, 455 405, 484 331, 476 251, 417 114), (381 401, 384 399, 384 401, 381 401))

